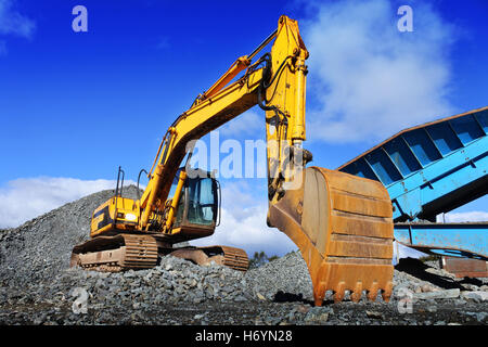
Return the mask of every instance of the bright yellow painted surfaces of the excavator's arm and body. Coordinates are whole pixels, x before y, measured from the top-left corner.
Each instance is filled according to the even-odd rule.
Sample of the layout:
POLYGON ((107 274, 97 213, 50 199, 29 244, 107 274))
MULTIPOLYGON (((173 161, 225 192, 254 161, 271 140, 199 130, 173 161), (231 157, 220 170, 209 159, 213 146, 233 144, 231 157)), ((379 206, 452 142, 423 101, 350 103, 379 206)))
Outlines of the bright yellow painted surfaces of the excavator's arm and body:
MULTIPOLYGON (((306 74, 305 60, 308 57, 308 51, 300 38, 298 24, 296 21, 287 16, 281 16, 278 23, 278 30, 271 48, 271 65, 270 75, 275 76, 272 83, 264 91, 266 97, 266 106, 273 106, 279 112, 267 111, 266 118, 280 117, 280 125, 275 131, 270 131, 269 124, 265 123, 264 128, 267 131, 267 140, 270 143, 279 145, 293 145, 294 142, 305 140, 305 93, 306 93, 306 74), (266 124, 266 126, 265 126, 266 124), (286 129, 284 129, 287 124, 286 129)), ((254 56, 254 54, 253 54, 254 56)), ((258 104, 258 90, 264 80, 264 68, 253 65, 247 55, 239 57, 235 63, 205 92, 200 95, 192 107, 184 112, 169 127, 159 149, 157 151, 153 167, 149 174, 149 183, 140 201, 120 200, 117 208, 110 204, 111 217, 115 215, 115 210, 123 210, 127 206, 136 209, 138 218, 137 230, 149 230, 150 220, 153 210, 164 208, 168 198, 172 178, 185 155, 185 146, 192 140, 197 140, 224 125, 227 121, 237 117, 248 108, 258 104), (246 74, 235 82, 230 81, 236 75, 247 68, 246 74), (154 169, 154 171, 153 171, 154 169), (127 206, 126 206, 127 205, 127 206)), ((268 150, 269 165, 272 162, 278 163, 280 170, 285 171, 286 158, 283 155, 283 149, 280 146, 269 146, 268 150)), ((183 171, 182 171, 183 172, 183 171)), ((285 178, 286 180, 287 178, 285 178)), ((183 180, 180 177, 178 188, 181 193, 183 180)), ((277 187, 279 180, 274 182, 277 187)), ((177 196, 175 196, 177 197, 177 196)), ((172 217, 177 207, 177 200, 168 214, 168 218, 164 221, 166 231, 172 226, 172 217)), ((107 204, 107 203, 105 203, 107 204)), ((102 206, 105 206, 102 205, 102 206)), ((102 207, 101 206, 101 207, 102 207)), ((100 210, 100 208, 98 209, 100 210)), ((92 235, 101 234, 105 229, 97 230, 97 221, 91 224, 92 235)), ((121 220, 124 221, 124 220, 121 220)), ((124 228, 124 222, 116 226, 117 229, 124 228)))

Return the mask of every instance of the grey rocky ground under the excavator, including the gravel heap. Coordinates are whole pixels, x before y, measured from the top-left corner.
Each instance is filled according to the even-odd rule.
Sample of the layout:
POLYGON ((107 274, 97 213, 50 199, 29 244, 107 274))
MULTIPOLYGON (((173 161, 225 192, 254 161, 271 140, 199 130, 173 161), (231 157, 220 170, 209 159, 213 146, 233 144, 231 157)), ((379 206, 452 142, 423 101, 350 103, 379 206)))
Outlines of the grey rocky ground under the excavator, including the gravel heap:
MULTIPOLYGON (((0 231, 0 324, 486 325, 488 279, 455 279, 436 261, 401 259, 389 303, 313 307, 299 253, 246 273, 166 257, 149 270, 68 269, 104 191, 0 231)), ((134 188, 126 190, 134 197, 134 188)))

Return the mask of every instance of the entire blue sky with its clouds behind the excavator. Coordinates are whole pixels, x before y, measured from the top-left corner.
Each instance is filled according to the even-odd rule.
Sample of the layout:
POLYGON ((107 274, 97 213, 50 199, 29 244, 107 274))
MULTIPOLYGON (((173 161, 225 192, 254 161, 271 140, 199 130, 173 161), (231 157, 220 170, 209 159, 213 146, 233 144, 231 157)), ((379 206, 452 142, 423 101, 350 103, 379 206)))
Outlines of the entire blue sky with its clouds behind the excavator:
MULTIPOLYGON (((118 165, 136 180, 172 120, 274 30, 281 14, 299 21, 310 51, 306 146, 314 165, 336 168, 408 126, 488 104, 488 3, 481 0, 0 0, 4 205, 36 202, 35 215, 112 184, 118 165), (72 29, 77 4, 88 10, 88 33, 72 29), (412 33, 396 27, 402 4, 413 9, 412 33), (76 183, 66 184, 68 178, 76 183), (34 196, 39 184, 56 194, 34 196)), ((253 108, 221 138, 264 139, 261 116, 253 108)), ((240 218, 253 223, 266 207, 265 179, 222 184, 235 200, 227 210, 232 228, 241 230, 240 218)), ((488 211, 487 200, 460 210, 488 211)), ((271 247, 273 240, 256 236, 247 247, 290 249, 288 243, 271 247)))

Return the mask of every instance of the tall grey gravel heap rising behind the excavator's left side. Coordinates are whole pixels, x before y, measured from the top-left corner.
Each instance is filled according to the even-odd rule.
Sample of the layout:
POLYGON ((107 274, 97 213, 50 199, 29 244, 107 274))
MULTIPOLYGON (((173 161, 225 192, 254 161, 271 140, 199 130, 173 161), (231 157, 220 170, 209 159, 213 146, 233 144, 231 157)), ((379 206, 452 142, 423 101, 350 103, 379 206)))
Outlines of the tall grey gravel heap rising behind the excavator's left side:
MULTIPOLYGON (((134 185, 124 189, 124 196, 134 198, 136 194, 134 185)), ((73 246, 89 240, 93 210, 112 196, 114 190, 94 193, 0 231, 0 285, 52 281, 69 266, 73 246)))

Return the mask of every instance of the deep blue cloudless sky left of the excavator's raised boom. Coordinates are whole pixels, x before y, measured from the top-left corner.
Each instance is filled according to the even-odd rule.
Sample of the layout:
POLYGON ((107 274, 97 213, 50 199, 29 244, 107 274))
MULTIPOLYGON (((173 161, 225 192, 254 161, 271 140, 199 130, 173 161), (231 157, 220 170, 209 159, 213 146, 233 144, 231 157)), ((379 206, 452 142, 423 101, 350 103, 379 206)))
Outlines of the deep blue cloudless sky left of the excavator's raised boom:
POLYGON ((79 1, 11 2, 36 27, 4 37, 1 145, 14 151, 2 153, 0 181, 113 178, 118 164, 136 176, 174 118, 285 12, 265 5, 243 26, 224 2, 82 1, 89 30, 74 33, 79 1))

